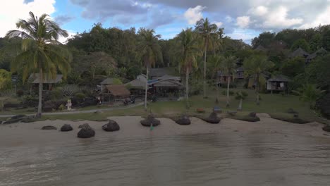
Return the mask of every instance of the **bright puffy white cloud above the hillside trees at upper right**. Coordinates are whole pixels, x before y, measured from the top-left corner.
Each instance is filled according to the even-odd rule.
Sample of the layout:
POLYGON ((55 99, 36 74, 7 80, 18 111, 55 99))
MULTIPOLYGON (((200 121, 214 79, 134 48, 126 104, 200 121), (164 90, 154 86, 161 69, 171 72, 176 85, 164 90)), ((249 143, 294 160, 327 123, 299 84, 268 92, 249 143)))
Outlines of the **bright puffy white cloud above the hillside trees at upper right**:
POLYGON ((267 14, 266 20, 263 23, 264 27, 291 27, 302 23, 302 18, 288 18, 288 8, 279 6, 267 14))

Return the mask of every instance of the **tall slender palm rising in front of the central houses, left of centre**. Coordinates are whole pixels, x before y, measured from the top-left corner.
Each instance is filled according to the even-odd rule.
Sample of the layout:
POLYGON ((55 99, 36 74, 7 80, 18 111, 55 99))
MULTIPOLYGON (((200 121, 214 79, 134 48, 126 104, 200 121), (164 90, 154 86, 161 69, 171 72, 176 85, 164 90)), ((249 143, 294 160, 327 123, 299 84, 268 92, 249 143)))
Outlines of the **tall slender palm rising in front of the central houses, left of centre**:
POLYGON ((147 110, 147 92, 148 92, 148 75, 149 66, 154 66, 157 60, 163 61, 161 54, 161 46, 158 43, 158 39, 161 35, 154 35, 154 30, 140 29, 139 30, 140 41, 139 51, 142 61, 145 63, 147 68, 147 78, 145 82, 145 110, 147 110))

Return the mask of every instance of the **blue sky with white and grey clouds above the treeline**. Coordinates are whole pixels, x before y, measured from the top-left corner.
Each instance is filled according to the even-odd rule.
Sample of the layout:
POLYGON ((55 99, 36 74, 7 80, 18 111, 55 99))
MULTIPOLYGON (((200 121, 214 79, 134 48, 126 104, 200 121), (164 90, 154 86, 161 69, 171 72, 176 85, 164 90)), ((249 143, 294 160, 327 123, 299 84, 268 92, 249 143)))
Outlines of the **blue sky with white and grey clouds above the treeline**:
MULTIPOLYGON (((227 36, 250 43, 259 33, 330 24, 330 0, 1 0, 0 37, 16 29, 18 19, 47 13, 76 35, 94 23, 103 27, 147 27, 162 39, 209 18, 227 36)), ((61 38, 61 42, 65 39, 61 38)))

